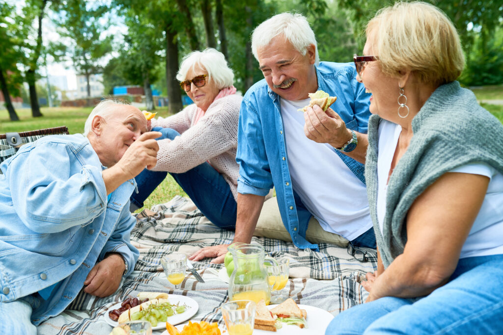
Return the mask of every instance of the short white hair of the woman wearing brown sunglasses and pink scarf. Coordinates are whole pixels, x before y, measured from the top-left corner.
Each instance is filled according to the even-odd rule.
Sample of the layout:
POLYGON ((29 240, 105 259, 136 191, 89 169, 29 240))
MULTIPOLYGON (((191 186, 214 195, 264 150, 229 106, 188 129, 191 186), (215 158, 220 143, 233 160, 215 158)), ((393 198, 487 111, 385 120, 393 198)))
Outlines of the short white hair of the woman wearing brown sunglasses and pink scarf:
POLYGON ((192 79, 187 78, 187 72, 191 69, 194 71, 196 66, 204 68, 208 72, 208 79, 214 80, 218 89, 232 86, 234 83, 234 73, 227 65, 225 56, 213 48, 208 48, 204 51, 193 51, 186 55, 182 59, 182 64, 180 64, 177 80, 192 79))

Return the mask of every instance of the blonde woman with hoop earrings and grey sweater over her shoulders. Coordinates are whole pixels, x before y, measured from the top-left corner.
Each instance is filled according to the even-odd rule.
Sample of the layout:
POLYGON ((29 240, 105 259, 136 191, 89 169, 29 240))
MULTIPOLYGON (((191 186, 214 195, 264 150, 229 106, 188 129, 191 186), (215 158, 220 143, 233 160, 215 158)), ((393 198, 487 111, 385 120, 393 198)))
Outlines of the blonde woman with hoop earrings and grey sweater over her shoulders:
POLYGON ((366 30, 365 176, 378 270, 326 334, 497 333, 503 324, 503 126, 456 81, 459 36, 439 9, 397 3, 366 30), (499 329, 499 330, 498 330, 499 329))

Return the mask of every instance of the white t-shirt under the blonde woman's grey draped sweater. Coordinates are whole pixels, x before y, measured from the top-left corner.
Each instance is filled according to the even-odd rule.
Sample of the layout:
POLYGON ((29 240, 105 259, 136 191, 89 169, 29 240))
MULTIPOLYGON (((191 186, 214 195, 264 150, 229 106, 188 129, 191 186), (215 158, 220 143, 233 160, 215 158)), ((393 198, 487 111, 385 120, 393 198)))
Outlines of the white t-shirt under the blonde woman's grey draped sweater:
MULTIPOLYGON (((377 220, 382 232, 391 161, 401 127, 386 120, 379 124, 377 160, 377 220)), ((460 258, 503 254, 503 175, 485 163, 466 164, 449 172, 480 174, 490 178, 487 192, 462 249, 460 258)))

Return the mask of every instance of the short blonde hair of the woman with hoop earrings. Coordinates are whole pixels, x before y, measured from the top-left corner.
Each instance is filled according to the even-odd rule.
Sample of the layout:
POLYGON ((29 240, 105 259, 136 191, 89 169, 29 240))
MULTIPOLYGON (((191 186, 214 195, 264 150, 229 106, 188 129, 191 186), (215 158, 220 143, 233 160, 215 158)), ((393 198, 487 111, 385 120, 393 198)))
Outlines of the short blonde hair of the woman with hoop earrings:
POLYGON ((463 71, 456 28, 433 5, 399 2, 381 9, 367 24, 366 34, 382 71, 392 77, 410 70, 423 83, 442 85, 463 71))

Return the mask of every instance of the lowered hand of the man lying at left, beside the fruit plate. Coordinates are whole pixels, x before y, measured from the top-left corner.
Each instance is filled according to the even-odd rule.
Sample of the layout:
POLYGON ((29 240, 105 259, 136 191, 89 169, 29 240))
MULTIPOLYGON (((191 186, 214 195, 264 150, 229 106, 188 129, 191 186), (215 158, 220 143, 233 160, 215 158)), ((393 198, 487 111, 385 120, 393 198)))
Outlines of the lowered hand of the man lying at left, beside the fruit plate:
POLYGON ((124 273, 125 264, 121 256, 111 254, 96 264, 84 282, 84 292, 106 297, 117 291, 124 273))

